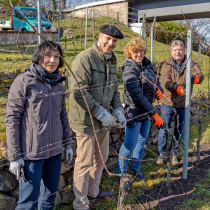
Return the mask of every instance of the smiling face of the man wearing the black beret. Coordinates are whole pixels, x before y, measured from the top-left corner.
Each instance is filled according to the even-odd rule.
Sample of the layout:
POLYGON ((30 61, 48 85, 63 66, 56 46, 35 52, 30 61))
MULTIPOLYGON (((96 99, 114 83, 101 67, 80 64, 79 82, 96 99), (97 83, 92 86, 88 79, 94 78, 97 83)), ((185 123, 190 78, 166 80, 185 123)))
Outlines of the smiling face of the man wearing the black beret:
POLYGON ((99 34, 100 47, 105 54, 109 54, 117 45, 117 38, 109 36, 107 34, 99 34))

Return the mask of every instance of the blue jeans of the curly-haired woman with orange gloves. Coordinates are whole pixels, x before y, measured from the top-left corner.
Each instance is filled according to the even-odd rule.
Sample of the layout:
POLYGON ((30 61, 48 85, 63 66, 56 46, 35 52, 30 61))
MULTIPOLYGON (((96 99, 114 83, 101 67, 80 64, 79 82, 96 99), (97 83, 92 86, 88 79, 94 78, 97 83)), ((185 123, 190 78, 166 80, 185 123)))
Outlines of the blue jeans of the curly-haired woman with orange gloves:
POLYGON ((118 174, 126 174, 128 168, 128 160, 133 153, 132 170, 140 171, 141 160, 144 153, 144 145, 146 143, 151 126, 150 120, 135 122, 134 127, 125 128, 125 139, 119 152, 119 161, 117 166, 118 174), (126 158, 126 159, 124 159, 126 158))

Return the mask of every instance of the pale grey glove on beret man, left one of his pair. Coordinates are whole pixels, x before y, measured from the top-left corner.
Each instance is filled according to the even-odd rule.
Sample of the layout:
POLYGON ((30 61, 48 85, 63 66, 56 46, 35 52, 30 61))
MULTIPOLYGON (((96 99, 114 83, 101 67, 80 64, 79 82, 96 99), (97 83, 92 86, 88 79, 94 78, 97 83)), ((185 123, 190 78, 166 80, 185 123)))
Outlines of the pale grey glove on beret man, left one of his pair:
POLYGON ((102 122, 102 125, 105 127, 114 127, 117 125, 114 117, 103 107, 100 107, 95 117, 96 119, 100 120, 102 122))

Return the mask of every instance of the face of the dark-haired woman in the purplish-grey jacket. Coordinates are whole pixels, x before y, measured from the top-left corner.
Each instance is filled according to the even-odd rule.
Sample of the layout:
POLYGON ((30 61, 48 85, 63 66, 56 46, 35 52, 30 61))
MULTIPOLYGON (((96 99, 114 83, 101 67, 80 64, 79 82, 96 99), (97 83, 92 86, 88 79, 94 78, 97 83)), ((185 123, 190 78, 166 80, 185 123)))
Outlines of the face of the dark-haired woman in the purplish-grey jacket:
POLYGON ((59 53, 56 51, 45 50, 44 58, 40 65, 44 67, 49 73, 53 73, 59 65, 59 53))

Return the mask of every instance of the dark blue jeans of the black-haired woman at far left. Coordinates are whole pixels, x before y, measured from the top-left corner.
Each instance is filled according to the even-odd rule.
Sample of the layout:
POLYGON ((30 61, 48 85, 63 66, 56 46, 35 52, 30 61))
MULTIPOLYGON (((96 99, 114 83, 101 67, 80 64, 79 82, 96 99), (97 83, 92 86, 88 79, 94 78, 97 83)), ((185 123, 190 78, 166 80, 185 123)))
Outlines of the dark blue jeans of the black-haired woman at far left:
POLYGON ((19 200, 16 210, 53 209, 60 180, 62 154, 44 160, 25 160, 26 182, 19 179, 19 200), (39 196, 40 192, 40 196, 39 196), (39 199, 38 199, 39 196, 39 199))

